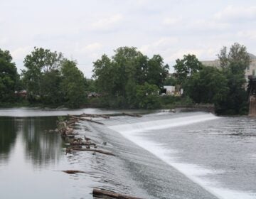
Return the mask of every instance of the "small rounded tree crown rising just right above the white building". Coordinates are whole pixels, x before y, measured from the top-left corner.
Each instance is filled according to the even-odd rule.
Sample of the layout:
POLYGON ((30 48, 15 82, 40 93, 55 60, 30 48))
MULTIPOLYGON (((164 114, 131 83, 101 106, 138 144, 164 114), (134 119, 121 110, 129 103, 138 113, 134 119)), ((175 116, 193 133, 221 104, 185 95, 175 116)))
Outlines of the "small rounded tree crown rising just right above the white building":
POLYGON ((174 69, 176 70, 178 85, 183 85, 186 77, 193 75, 202 68, 202 63, 196 58, 196 55, 183 55, 183 59, 177 59, 174 69))

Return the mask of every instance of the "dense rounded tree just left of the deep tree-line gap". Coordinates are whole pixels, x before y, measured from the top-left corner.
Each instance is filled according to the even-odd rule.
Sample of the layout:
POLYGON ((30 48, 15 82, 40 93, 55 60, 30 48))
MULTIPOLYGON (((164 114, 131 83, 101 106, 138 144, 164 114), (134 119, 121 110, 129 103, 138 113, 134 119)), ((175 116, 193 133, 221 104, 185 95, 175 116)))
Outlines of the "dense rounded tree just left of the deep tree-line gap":
POLYGON ((86 79, 82 72, 76 67, 76 63, 64 60, 60 69, 62 80, 60 90, 63 93, 67 107, 78 108, 85 104, 86 79))

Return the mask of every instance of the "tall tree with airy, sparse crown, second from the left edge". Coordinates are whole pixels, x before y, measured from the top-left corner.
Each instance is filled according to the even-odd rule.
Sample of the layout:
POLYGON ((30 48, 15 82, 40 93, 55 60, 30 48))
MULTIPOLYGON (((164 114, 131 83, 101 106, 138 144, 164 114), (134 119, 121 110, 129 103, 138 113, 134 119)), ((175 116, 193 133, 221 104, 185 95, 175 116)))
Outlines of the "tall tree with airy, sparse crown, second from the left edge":
MULTIPOLYGON (((31 97, 36 98, 37 96, 41 98, 46 98, 48 93, 47 84, 43 83, 43 79, 48 72, 58 75, 57 71, 60 69, 60 63, 63 60, 62 53, 51 52, 48 49, 36 48, 34 47, 31 54, 26 55, 24 60, 24 66, 26 70, 23 70, 23 82, 26 85, 26 89, 31 95, 31 97)), ((47 75, 46 75, 47 76, 47 75)), ((57 80, 58 78, 54 78, 57 80)), ((58 85, 58 83, 53 83, 53 85, 58 85)))

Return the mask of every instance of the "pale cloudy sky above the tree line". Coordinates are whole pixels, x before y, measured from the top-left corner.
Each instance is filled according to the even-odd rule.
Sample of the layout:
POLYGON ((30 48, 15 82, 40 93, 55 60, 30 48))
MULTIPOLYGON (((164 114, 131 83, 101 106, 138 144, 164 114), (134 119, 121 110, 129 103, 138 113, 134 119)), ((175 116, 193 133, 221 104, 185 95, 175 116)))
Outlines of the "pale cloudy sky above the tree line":
MULTIPOLYGON (((93 62, 121 46, 137 47, 170 66, 184 54, 215 60, 237 42, 256 54, 255 0, 0 0, 0 48, 20 72, 33 47, 76 60, 85 77, 93 62)), ((173 68, 171 68, 171 71, 173 68)))

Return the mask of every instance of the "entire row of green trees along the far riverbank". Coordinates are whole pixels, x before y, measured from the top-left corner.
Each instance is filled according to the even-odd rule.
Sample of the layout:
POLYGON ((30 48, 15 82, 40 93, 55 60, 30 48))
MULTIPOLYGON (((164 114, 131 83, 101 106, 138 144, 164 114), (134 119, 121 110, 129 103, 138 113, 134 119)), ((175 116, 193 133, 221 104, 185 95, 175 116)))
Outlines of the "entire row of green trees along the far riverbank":
POLYGON ((245 68, 250 56, 244 45, 223 47, 218 55, 220 68, 204 66, 196 55, 184 55, 169 65, 160 55, 148 58, 137 48, 121 47, 93 63, 93 79, 87 81, 75 61, 62 53, 34 48, 24 59, 25 70, 18 75, 7 50, 0 49, 0 102, 17 102, 15 92, 26 90, 29 104, 58 107, 89 106, 112 108, 157 108, 182 103, 215 104, 218 114, 244 114, 247 111, 245 68), (183 88, 181 97, 159 97, 164 85, 183 88), (87 99, 88 92, 99 98, 87 99))

